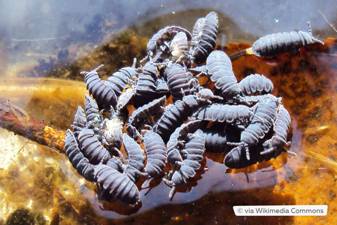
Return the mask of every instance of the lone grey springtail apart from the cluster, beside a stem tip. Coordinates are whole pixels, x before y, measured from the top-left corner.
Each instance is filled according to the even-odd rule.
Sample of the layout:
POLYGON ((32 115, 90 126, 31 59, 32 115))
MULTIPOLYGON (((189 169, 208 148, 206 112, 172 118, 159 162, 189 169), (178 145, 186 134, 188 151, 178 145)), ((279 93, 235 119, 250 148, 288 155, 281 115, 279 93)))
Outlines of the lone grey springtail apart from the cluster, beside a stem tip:
POLYGON ((253 53, 257 56, 275 56, 285 52, 298 51, 301 47, 311 45, 313 43, 324 43, 312 36, 310 24, 308 22, 309 33, 284 32, 277 34, 269 34, 259 38, 252 46, 253 53))

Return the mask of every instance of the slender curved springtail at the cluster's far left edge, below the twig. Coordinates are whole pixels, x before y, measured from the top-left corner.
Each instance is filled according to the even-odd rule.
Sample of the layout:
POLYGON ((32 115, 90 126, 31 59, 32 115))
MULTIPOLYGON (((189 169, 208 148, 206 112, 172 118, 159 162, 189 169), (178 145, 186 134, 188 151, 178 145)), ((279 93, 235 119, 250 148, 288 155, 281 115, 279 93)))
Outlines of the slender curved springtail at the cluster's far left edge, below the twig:
POLYGON ((68 129, 64 140, 65 154, 67 155, 72 167, 86 180, 94 182, 95 167, 83 156, 79 149, 75 136, 68 129))

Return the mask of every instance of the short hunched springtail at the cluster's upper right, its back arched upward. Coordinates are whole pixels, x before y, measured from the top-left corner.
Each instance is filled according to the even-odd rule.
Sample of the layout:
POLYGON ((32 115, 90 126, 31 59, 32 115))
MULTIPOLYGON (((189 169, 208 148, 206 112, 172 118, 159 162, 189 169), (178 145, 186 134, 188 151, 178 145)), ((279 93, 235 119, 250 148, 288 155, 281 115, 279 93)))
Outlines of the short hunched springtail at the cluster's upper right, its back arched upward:
POLYGON ((241 95, 268 94, 273 90, 271 80, 263 75, 251 74, 239 82, 241 95))

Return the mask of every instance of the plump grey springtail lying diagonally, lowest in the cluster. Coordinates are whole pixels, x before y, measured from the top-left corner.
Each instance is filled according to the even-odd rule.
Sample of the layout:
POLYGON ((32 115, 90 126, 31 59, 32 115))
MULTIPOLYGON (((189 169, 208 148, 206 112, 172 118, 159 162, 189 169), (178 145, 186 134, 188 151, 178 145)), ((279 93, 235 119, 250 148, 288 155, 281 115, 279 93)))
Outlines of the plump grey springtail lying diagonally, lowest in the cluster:
POLYGON ((140 194, 130 178, 110 166, 99 164, 95 168, 95 180, 103 200, 117 200, 134 205, 140 201, 140 194))

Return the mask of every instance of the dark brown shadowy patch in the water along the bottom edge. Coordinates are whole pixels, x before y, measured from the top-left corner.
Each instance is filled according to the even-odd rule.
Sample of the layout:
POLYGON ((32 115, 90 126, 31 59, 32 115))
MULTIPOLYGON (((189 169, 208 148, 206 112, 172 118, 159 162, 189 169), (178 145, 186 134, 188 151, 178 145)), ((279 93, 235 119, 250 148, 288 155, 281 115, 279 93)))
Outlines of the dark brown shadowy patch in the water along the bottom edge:
MULTIPOLYGON (((269 217, 236 217, 232 214, 234 205, 279 205, 296 204, 291 194, 275 193, 272 188, 261 188, 256 191, 227 191, 208 193, 195 201, 170 205, 160 205, 151 211, 139 213, 124 219, 113 220, 120 224, 130 222, 160 224, 268 224, 269 217), (257 194, 257 195, 256 195, 257 194)), ((279 224, 294 223, 293 217, 278 217, 279 224)))

